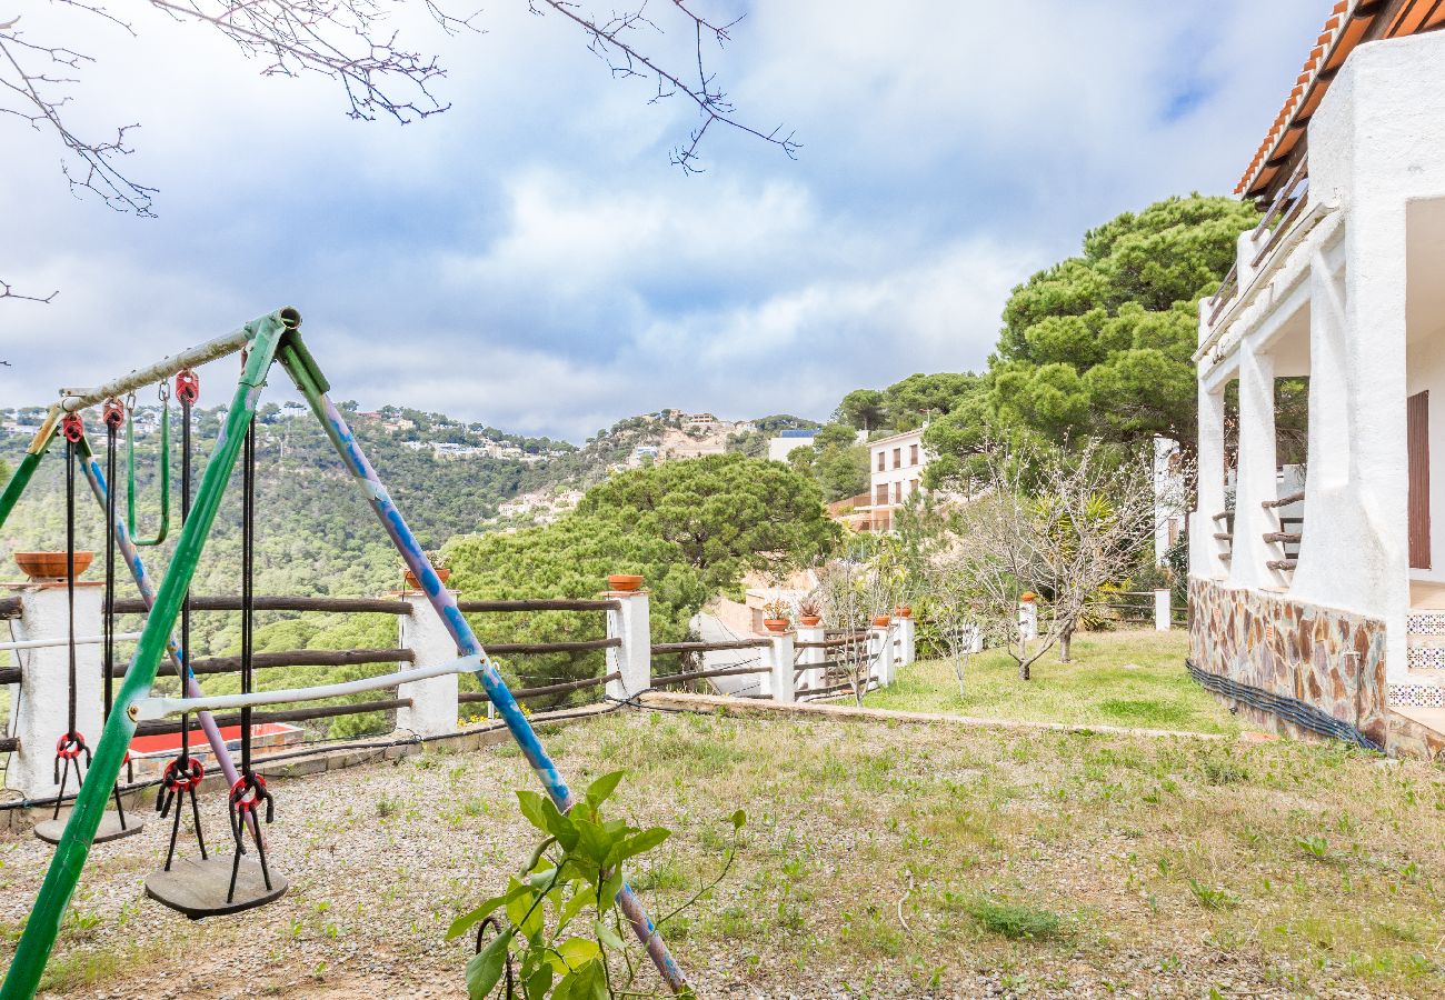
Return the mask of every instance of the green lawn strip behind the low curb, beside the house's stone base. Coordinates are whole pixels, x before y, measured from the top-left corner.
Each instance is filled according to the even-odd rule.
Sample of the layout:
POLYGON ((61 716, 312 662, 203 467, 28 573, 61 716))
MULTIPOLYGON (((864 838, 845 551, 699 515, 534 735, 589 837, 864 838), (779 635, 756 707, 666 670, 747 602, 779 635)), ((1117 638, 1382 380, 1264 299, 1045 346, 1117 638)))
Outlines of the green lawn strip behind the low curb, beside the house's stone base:
POLYGON ((971 658, 965 695, 945 660, 899 669, 897 682, 870 694, 873 708, 949 712, 1079 725, 1130 725, 1191 733, 1238 733, 1238 721, 1189 679, 1185 632, 1100 632, 1075 637, 1072 662, 1049 650, 1020 681, 1000 649, 971 658))

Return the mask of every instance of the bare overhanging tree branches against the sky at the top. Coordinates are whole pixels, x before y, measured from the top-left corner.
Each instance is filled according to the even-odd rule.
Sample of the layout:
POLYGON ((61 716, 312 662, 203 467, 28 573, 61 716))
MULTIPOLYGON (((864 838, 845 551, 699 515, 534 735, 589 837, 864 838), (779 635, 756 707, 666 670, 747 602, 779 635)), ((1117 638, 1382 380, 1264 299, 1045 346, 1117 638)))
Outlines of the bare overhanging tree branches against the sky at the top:
MULTIPOLYGON (((53 6, 108 22, 136 36, 137 9, 169 16, 218 32, 269 77, 318 75, 341 84, 345 113, 358 120, 392 118, 406 124, 445 111, 434 87, 447 75, 434 55, 403 45, 387 19, 406 9, 420 9, 445 33, 480 30, 478 14, 452 13, 447 0, 52 0, 53 6), (123 13, 121 13, 123 12, 123 13)), ((0 0, 0 9, 6 6, 0 0)), ((698 147, 712 126, 736 129, 772 143, 793 158, 799 145, 780 129, 764 132, 737 116, 736 107, 708 69, 712 46, 731 40, 737 20, 711 20, 698 13, 695 0, 660 3, 653 17, 649 0, 633 0, 621 10, 598 14, 574 0, 527 0, 535 14, 556 13, 579 27, 588 49, 614 78, 652 78, 652 103, 682 97, 696 105, 701 124, 672 150, 672 162, 688 173, 698 166, 698 147), (647 48, 649 35, 670 26, 695 40, 695 59, 686 68, 670 65, 647 48)), ((78 74, 94 58, 64 40, 35 39, 20 16, 4 19, 0 10, 0 118, 17 118, 48 132, 64 150, 61 171, 75 195, 100 198, 107 207, 150 217, 156 188, 131 178, 123 159, 131 152, 130 133, 137 123, 120 124, 111 134, 82 134, 69 124, 68 105, 79 85, 78 74)), ((0 282, 0 299, 49 302, 46 296, 20 295, 0 282)))

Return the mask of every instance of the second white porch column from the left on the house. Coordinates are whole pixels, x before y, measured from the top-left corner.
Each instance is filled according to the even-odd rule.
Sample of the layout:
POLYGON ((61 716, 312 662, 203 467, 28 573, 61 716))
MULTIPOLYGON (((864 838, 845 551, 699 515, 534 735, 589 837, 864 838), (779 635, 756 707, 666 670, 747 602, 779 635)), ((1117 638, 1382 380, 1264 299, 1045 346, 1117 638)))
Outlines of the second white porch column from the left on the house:
POLYGON ((1230 582, 1244 587, 1279 587, 1286 579, 1266 564, 1282 558, 1279 546, 1264 542, 1277 530, 1273 512, 1261 506, 1277 497, 1274 462, 1274 358, 1240 348, 1240 457, 1234 490, 1234 542, 1230 582))

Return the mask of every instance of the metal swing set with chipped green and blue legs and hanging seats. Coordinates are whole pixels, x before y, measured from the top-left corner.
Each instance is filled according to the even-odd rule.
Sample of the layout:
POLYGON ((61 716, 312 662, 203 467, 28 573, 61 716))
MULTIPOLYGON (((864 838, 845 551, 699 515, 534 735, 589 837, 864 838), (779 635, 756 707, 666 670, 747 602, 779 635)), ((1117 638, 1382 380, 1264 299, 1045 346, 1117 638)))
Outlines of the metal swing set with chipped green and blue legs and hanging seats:
MULTIPOLYGON (((121 767, 129 767, 129 747, 140 721, 159 720, 169 715, 181 717, 181 749, 163 772, 156 796, 156 809, 165 819, 173 809, 171 845, 165 867, 146 879, 146 895, 192 919, 221 913, 236 913, 262 906, 279 899, 288 887, 286 879, 270 870, 266 858, 266 835, 263 825, 275 818, 275 799, 266 788, 266 780, 253 769, 251 760, 251 708, 254 705, 283 704, 329 698, 390 688, 448 673, 475 673, 491 699, 497 715, 506 723, 523 756, 542 780, 556 806, 566 812, 575 802, 566 782, 548 757, 526 715, 507 689, 496 665, 487 658, 475 633, 457 607, 455 597, 442 587, 416 536, 406 526, 390 494, 376 470, 361 452, 351 428, 328 396, 329 384, 316 367, 315 360, 301 340, 301 315, 290 308, 277 309, 253 319, 240 329, 208 341, 191 350, 163 358, 146 368, 133 371, 97 389, 62 389, 61 399, 53 403, 40 425, 39 432, 26 449, 4 491, 0 493, 0 526, 4 525, 14 504, 25 493, 42 458, 56 436, 65 441, 66 462, 66 568, 68 597, 71 607, 69 627, 69 712, 68 731, 59 736, 56 746, 55 780, 61 785, 55 814, 36 827, 36 834, 56 844, 53 857, 39 896, 16 947, 14 958, 0 986, 0 1000, 33 997, 39 986, 45 962, 55 947, 61 918, 69 905, 71 895, 81 877, 85 860, 94 844, 140 831, 142 824, 127 818, 118 792, 121 767), (241 376, 237 382, 231 406, 225 412, 215 448, 201 474, 199 487, 192 497, 192 405, 199 396, 199 380, 194 368, 230 354, 241 355, 241 376), (393 545, 396 545, 407 568, 420 582, 432 608, 457 643, 458 658, 448 663, 419 669, 399 671, 345 684, 293 688, 286 691, 256 692, 253 689, 253 618, 256 598, 254 579, 254 522, 256 522, 256 408, 266 376, 280 364, 296 389, 306 399, 312 413, 321 422, 327 436, 335 447, 347 470, 357 481, 373 512, 381 520, 393 545), (175 396, 181 403, 181 520, 179 538, 171 564, 159 588, 152 585, 137 546, 153 546, 165 540, 169 530, 169 445, 171 403, 166 380, 175 376, 175 396), (160 488, 162 513, 156 535, 150 539, 136 538, 134 516, 134 390, 147 384, 160 384, 160 488), (126 400, 126 402, 121 402, 126 400), (129 405, 127 405, 129 403, 129 405), (103 408, 107 448, 105 468, 90 448, 81 413, 90 408, 103 408), (127 454, 127 503, 126 516, 118 512, 116 490, 118 465, 118 434, 126 425, 127 454), (189 668, 189 588, 205 540, 215 523, 221 497, 234 467, 241 465, 241 692, 237 695, 205 695, 189 668), (94 751, 75 720, 75 624, 74 624, 74 568, 75 568, 75 471, 82 471, 91 491, 105 512, 105 607, 104 607, 104 728, 94 751), (130 575, 140 591, 143 603, 150 608, 144 630, 123 673, 120 691, 113 691, 114 665, 114 607, 116 607, 116 556, 124 559, 130 575), (179 621, 179 640, 172 629, 179 621), (179 697, 152 694, 160 659, 169 658, 182 679, 179 697), (240 767, 231 759, 221 736, 214 710, 238 708, 241 714, 241 760, 240 767), (197 790, 205 776, 202 763, 191 754, 189 715, 195 714, 205 733, 230 789, 227 812, 233 854, 230 858, 207 851, 201 831, 201 812, 197 790), (81 757, 87 766, 81 770, 81 757), (75 793, 69 816, 61 819, 61 801, 74 772, 79 790, 75 793), (114 799, 116 809, 107 803, 114 799), (195 835, 199 858, 176 858, 176 840, 181 829, 181 812, 189 802, 195 819, 195 835), (45 829, 42 831, 42 827, 45 829), (253 851, 246 847, 247 838, 253 851)), ((617 902, 633 932, 647 949, 663 980, 673 993, 686 988, 686 977, 673 961, 666 944, 657 934, 633 890, 623 883, 617 902)))

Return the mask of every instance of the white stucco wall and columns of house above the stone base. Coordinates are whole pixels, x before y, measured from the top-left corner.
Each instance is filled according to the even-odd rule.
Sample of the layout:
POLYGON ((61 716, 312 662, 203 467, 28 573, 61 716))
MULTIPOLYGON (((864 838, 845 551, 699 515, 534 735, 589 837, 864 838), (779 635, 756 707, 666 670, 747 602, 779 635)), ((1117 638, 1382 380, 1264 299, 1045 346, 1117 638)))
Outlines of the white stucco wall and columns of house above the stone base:
MULTIPOLYGON (((1418 351, 1419 366, 1410 357, 1409 373, 1406 364, 1406 208, 1413 199, 1445 197, 1445 33, 1355 49, 1311 118, 1309 175, 1318 228, 1263 262, 1259 280, 1250 273, 1250 247, 1243 247, 1241 295, 1225 311, 1227 328, 1211 331, 1202 322, 1201 337, 1217 337, 1217 347, 1199 360, 1201 403, 1231 371, 1263 384, 1264 373, 1250 355, 1272 350, 1267 328, 1280 327, 1280 316, 1298 311, 1303 296, 1309 308, 1309 478, 1299 566, 1283 585, 1293 600, 1383 618, 1393 682, 1406 672, 1410 603, 1405 399, 1413 386, 1445 376, 1435 347, 1418 351)), ((1241 405, 1251 400, 1257 396, 1241 395, 1241 405)), ((1441 413, 1433 409, 1432 432, 1445 429, 1436 423, 1445 419, 1445 399, 1441 413)), ((1204 408, 1201 475, 1217 462, 1209 439, 1217 429, 1204 408)), ((1256 501, 1273 484, 1266 484, 1261 454, 1243 458, 1241 468, 1240 522, 1227 574, 1235 585, 1266 587, 1267 574, 1241 561, 1253 564, 1260 555, 1253 538, 1256 501), (1250 536, 1240 538, 1243 530, 1250 536)), ((1445 451, 1436 452, 1433 475, 1442 468, 1445 451)), ((1220 509, 1207 506, 1218 494, 1212 484, 1201 484, 1195 526, 1207 527, 1199 519, 1220 509)), ((1432 500, 1441 503, 1445 496, 1432 500)), ((1436 525, 1436 536, 1445 535, 1445 520, 1436 525)), ((1194 574, 1221 575, 1224 568, 1204 539, 1192 549, 1194 574)), ((1445 569, 1445 549, 1436 551, 1445 569)))

